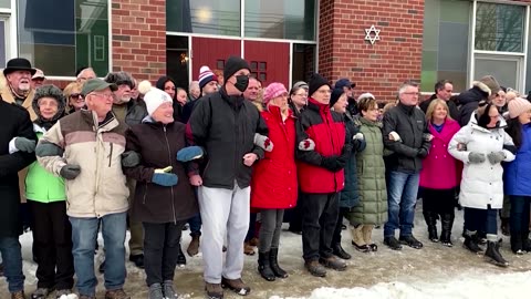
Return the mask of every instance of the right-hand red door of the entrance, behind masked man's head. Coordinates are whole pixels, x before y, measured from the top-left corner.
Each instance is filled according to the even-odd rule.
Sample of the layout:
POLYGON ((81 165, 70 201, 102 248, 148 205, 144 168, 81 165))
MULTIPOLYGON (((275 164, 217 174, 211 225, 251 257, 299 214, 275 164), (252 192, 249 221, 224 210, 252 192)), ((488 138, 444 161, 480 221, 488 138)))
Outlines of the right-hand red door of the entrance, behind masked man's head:
POLYGON ((269 83, 280 82, 290 86, 290 44, 283 42, 244 41, 244 56, 251 66, 251 73, 266 87, 269 83))

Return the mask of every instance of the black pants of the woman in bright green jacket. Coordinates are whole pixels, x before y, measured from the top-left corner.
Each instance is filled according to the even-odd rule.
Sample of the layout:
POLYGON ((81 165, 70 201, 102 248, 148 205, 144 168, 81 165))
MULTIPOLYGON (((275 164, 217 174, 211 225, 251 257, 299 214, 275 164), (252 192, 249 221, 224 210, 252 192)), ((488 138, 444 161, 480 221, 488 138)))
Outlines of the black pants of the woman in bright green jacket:
POLYGON ((66 216, 66 203, 38 203, 28 200, 33 215, 33 255, 38 288, 58 290, 74 286, 74 258, 72 256, 72 226, 66 216), (55 271, 56 268, 56 271, 55 271))

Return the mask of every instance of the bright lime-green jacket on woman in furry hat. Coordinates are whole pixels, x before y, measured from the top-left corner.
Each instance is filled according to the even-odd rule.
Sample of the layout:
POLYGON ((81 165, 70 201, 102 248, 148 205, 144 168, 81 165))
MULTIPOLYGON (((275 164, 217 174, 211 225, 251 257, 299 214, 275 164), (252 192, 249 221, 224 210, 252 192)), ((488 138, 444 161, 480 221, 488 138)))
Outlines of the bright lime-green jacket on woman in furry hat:
MULTIPOLYGON (((41 138, 45 133, 43 128, 35 124, 33 130, 38 138, 41 138)), ((64 202, 66 200, 64 181, 62 177, 49 173, 39 162, 33 162, 29 166, 28 176, 25 177, 25 197, 29 200, 43 204, 64 202)))

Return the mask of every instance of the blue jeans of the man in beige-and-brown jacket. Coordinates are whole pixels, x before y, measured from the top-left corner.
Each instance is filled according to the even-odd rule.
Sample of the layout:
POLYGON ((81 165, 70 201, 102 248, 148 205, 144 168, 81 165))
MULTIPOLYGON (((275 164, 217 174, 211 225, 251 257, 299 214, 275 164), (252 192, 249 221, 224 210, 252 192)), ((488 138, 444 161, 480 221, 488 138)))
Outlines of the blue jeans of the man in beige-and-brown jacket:
POLYGON ((95 296, 97 279, 94 275, 94 248, 97 238, 97 224, 102 221, 105 246, 105 289, 114 290, 124 286, 125 230, 127 213, 105 215, 102 218, 70 217, 72 224, 72 254, 74 256, 77 290, 80 295, 95 296))

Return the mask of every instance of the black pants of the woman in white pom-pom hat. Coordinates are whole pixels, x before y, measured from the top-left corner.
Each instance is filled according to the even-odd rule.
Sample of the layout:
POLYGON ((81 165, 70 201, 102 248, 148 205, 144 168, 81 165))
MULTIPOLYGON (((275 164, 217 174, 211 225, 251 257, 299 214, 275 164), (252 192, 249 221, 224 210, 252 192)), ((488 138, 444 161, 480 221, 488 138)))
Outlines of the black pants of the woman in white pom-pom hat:
POLYGON ((165 224, 142 223, 144 225, 144 267, 147 286, 174 280, 179 256, 179 241, 187 219, 165 224))

